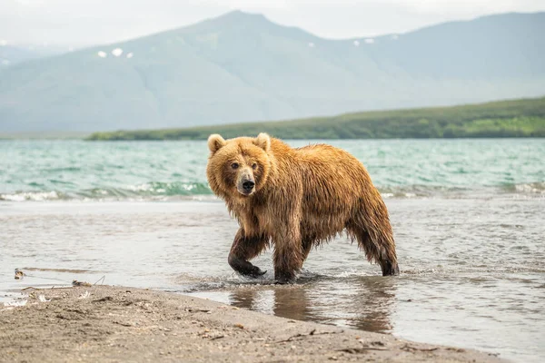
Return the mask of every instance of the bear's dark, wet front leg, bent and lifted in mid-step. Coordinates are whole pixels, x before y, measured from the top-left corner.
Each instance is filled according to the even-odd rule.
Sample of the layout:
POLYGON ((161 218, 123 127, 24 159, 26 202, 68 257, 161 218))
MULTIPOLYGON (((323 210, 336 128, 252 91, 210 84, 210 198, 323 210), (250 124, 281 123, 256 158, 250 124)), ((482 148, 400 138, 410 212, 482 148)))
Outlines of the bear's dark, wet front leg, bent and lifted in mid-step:
POLYGON ((229 266, 241 275, 257 278, 265 272, 257 266, 253 266, 248 260, 252 260, 265 249, 269 240, 264 236, 246 236, 241 228, 236 232, 233 246, 229 252, 229 266))

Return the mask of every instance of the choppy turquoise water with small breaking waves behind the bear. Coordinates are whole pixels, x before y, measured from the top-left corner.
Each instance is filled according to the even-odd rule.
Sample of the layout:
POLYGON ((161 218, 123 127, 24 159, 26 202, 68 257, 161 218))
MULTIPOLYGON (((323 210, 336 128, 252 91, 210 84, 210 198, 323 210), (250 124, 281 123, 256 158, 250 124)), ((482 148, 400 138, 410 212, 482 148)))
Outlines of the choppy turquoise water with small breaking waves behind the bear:
MULTIPOLYGON (((329 143, 359 158, 385 197, 545 193, 542 139, 329 143)), ((206 142, 4 141, 0 155, 0 199, 7 201, 163 200, 212 194, 204 172, 206 142)))

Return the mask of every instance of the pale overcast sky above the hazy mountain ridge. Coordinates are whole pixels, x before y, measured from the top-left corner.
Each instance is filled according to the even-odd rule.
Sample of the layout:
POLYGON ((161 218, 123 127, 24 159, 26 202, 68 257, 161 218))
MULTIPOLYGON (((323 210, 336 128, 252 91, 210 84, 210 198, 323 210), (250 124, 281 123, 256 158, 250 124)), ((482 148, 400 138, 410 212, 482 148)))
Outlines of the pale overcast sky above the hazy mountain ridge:
POLYGON ((347 38, 480 15, 545 11, 545 0, 0 0, 0 44, 113 43, 235 9, 323 37, 347 38))

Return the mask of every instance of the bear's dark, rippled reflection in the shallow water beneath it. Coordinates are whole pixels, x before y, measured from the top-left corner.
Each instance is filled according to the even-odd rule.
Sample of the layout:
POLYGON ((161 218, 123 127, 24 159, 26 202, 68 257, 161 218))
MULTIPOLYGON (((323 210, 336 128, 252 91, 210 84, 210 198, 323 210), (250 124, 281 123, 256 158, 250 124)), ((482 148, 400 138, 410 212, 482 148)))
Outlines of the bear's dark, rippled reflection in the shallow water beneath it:
POLYGON ((282 318, 316 321, 379 333, 392 329, 395 279, 361 277, 294 286, 253 286, 231 292, 233 306, 282 318))

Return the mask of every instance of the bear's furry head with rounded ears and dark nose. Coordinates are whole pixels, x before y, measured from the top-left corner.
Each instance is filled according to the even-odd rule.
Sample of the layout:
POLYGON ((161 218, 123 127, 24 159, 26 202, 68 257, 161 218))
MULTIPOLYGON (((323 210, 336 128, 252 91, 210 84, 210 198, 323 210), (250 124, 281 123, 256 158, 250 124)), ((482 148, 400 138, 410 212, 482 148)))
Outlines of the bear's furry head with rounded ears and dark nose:
POLYGON ((206 174, 212 190, 222 197, 249 197, 260 191, 271 168, 271 137, 237 137, 223 140, 218 134, 208 138, 210 157, 206 174))

